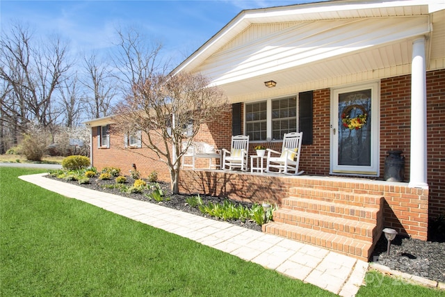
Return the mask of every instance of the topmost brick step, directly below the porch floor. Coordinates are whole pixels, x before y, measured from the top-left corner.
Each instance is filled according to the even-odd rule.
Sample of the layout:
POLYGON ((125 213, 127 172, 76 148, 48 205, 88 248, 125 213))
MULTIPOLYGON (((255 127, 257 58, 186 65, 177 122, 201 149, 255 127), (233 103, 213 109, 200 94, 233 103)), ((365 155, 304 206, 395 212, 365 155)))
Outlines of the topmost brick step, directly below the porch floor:
POLYGON ((369 195, 348 191, 326 190, 320 188, 300 188, 289 189, 289 197, 304 198, 311 200, 321 200, 341 204, 354 205, 357 207, 371 207, 380 209, 384 198, 380 195, 369 195))

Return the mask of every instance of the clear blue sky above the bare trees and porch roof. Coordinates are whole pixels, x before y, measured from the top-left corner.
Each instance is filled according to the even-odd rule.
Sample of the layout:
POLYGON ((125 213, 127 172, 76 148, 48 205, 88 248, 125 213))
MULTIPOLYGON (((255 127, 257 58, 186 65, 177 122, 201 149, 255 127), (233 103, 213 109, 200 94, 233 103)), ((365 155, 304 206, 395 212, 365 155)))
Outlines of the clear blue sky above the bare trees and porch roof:
POLYGON ((179 63, 241 10, 314 1, 0 1, 1 28, 29 24, 35 35, 58 33, 74 51, 102 51, 113 46, 115 28, 134 26, 179 63))

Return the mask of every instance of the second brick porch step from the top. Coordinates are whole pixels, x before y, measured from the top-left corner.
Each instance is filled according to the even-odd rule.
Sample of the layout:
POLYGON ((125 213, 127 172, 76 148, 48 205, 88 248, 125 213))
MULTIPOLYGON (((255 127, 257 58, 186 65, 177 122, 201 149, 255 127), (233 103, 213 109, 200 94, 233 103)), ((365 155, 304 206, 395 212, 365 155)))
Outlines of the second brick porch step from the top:
POLYGON ((355 205, 326 202, 307 198, 286 198, 282 200, 282 209, 305 211, 311 214, 321 214, 348 220, 359 220, 365 223, 375 223, 380 214, 380 208, 357 207, 355 205))

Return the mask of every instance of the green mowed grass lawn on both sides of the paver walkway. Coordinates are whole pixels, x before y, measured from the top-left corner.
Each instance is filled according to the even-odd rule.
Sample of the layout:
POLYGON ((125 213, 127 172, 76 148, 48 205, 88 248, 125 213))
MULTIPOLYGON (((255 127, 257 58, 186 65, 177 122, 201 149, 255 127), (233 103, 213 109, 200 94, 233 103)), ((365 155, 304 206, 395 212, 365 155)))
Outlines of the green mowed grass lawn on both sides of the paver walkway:
MULTIPOLYGON (((0 168, 0 296, 334 296, 0 168)), ((357 296, 444 296, 380 273, 357 296)))

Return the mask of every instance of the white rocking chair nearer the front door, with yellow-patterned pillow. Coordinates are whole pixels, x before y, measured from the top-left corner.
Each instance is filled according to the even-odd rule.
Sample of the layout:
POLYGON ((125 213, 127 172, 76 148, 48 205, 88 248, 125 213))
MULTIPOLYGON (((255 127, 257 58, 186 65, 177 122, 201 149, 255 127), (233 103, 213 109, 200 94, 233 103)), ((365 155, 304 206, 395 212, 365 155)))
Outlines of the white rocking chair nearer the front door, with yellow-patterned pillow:
POLYGON ((284 134, 283 147, 281 152, 267 149, 266 172, 270 168, 277 168, 278 172, 288 175, 300 175, 303 171, 298 171, 300 163, 301 140, 303 132, 291 132, 284 134), (272 154, 279 156, 272 156, 272 154), (292 171, 292 172, 290 172, 292 171))

